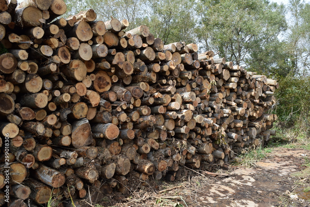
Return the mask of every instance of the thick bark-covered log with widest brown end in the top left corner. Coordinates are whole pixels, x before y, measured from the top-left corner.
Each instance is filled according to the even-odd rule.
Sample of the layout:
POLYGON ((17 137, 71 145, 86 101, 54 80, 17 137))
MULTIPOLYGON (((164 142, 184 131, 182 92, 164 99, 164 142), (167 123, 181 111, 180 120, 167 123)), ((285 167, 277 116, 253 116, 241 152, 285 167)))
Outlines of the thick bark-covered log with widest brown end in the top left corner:
MULTIPOLYGON (((42 2, 44 2, 44 0, 42 0, 42 2)), ((40 26, 40 20, 42 18, 42 11, 37 7, 28 6, 15 10, 16 24, 21 27, 40 26)))

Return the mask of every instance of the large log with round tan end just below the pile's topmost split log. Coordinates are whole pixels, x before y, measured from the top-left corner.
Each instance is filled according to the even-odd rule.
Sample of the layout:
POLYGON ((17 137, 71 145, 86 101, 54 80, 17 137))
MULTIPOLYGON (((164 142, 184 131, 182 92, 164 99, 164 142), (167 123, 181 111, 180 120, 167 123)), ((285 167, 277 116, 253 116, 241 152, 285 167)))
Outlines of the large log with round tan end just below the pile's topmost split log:
POLYGON ((76 37, 81 42, 85 42, 93 37, 93 32, 91 26, 86 21, 79 21, 74 24, 73 28, 66 35, 68 37, 76 37))

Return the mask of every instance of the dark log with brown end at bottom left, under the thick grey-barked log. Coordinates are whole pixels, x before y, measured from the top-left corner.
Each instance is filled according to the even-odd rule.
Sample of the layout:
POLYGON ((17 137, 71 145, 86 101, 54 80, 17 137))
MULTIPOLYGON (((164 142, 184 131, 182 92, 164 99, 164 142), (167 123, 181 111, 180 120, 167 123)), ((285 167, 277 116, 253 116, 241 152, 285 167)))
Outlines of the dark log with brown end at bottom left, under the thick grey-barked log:
POLYGON ((25 185, 30 187, 31 193, 29 197, 31 200, 38 204, 45 204, 48 202, 52 193, 51 188, 32 178, 25 180, 25 185))

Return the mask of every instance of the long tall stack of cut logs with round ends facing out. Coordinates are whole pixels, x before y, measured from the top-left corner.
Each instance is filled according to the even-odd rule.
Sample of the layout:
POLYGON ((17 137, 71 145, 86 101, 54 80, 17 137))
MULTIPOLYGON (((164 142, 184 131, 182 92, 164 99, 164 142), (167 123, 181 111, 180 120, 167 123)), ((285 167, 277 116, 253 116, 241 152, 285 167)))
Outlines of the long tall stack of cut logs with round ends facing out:
POLYGON ((274 133, 278 83, 213 51, 93 10, 57 19, 63 0, 0 8, 0 206, 7 167, 9 206, 94 202, 128 194, 128 176, 223 166, 274 133))

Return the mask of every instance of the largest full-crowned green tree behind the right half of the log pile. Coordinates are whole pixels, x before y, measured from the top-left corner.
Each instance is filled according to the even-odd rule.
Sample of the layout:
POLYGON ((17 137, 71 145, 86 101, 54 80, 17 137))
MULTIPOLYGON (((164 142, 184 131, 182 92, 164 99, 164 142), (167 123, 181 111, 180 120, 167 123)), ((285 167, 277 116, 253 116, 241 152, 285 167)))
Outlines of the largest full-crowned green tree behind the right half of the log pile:
POLYGON ((201 1, 201 43, 235 64, 259 70, 277 52, 285 8, 265 0, 201 1), (263 66, 262 66, 263 65, 263 66))

